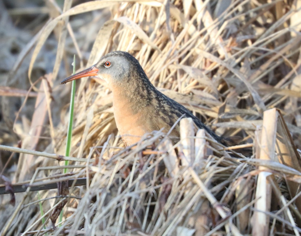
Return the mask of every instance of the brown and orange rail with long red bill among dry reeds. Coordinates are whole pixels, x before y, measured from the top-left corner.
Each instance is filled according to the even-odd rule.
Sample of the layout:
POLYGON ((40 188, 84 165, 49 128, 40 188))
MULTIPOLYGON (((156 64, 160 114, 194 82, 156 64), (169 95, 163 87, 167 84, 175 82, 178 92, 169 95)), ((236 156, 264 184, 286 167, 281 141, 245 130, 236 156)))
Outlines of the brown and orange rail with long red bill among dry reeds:
MULTIPOLYGON (((89 76, 104 80, 111 89, 114 118, 125 146, 137 143, 141 136, 152 131, 164 128, 163 132, 167 133, 181 117, 192 118, 198 128, 207 131, 219 143, 225 143, 183 105, 157 90, 139 61, 128 52, 110 52, 95 65, 60 84, 89 76)), ((170 135, 179 137, 178 123, 170 135)))

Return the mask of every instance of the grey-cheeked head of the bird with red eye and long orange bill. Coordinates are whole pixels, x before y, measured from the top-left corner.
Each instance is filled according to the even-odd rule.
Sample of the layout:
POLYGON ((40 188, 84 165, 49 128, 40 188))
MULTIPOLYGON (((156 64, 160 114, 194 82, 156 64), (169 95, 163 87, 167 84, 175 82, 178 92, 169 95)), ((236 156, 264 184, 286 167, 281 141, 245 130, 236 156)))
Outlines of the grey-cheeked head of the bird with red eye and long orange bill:
POLYGON ((109 86, 124 83, 131 74, 144 74, 138 60, 128 52, 116 51, 103 56, 95 65, 64 79, 61 84, 82 77, 97 76, 106 81, 109 86))

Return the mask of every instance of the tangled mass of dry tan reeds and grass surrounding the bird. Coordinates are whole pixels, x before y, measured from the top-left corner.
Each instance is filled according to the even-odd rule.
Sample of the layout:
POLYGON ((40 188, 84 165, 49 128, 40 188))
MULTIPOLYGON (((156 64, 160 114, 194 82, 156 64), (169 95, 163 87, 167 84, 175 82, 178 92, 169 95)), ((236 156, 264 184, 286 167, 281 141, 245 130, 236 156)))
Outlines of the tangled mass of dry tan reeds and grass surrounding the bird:
POLYGON ((38 16, 23 31, 12 24, 22 24, 22 8, 1 7, 11 49, 1 60, 12 63, 1 75, 0 142, 13 152, 1 152, 1 178, 8 190, 30 186, 15 206, 0 195, 1 235, 300 235, 300 0, 45 4, 29 8, 38 16), (110 88, 92 78, 77 84, 64 157, 71 85, 59 82, 73 54, 84 69, 115 50, 238 146, 183 119, 175 145, 158 131, 124 148, 110 88))

